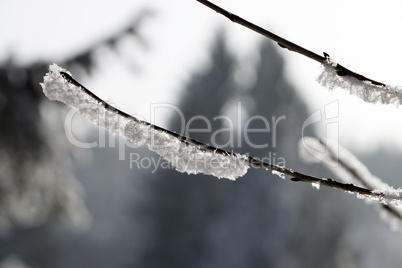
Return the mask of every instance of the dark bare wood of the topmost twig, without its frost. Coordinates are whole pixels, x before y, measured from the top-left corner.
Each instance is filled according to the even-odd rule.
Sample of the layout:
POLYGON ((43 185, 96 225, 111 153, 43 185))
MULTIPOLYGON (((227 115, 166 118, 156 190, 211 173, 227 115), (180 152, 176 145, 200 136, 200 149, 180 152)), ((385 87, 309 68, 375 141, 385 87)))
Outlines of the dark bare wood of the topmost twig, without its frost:
MULTIPOLYGON (((227 11, 227 10, 225 10, 225 9, 223 9, 223 8, 221 8, 221 7, 215 5, 215 4, 213 4, 213 3, 211 3, 211 2, 209 2, 207 0, 196 0, 196 1, 198 1, 201 4, 209 7, 212 10, 215 10, 217 13, 225 16, 226 18, 228 18, 232 22, 238 23, 238 24, 240 24, 240 25, 242 25, 242 26, 244 26, 244 27, 256 32, 256 33, 259 33, 259 34, 261 34, 261 35, 263 35, 263 36, 265 36, 265 37, 277 42, 278 45, 280 47, 282 47, 282 48, 286 48, 286 49, 288 49, 290 51, 294 51, 296 53, 304 55, 304 56, 306 56, 306 57, 308 57, 308 58, 310 58, 312 60, 315 60, 315 61, 317 61, 317 62, 319 62, 321 64, 328 63, 328 61, 327 61, 329 59, 328 53, 323 52, 324 57, 320 56, 320 55, 312 52, 311 50, 305 49, 304 47, 301 47, 301 46, 299 46, 299 45, 297 45, 297 44, 295 44, 293 42, 290 42, 290 41, 288 41, 288 40, 286 40, 286 39, 284 39, 284 38, 282 38, 282 37, 270 32, 270 31, 267 31, 267 30, 261 28, 258 25, 255 25, 255 24, 253 24, 253 23, 251 23, 251 22, 249 22, 249 21, 247 21, 247 20, 245 20, 245 19, 243 19, 243 18, 241 18, 241 17, 239 17, 239 16, 237 16, 237 15, 235 15, 233 13, 230 13, 229 11, 227 11)), ((361 74, 355 73, 355 72, 343 67, 340 64, 337 64, 336 66, 333 66, 333 68, 335 68, 336 74, 339 75, 339 76, 346 76, 347 75, 347 76, 354 77, 354 78, 356 78, 356 79, 358 79, 360 81, 370 82, 371 84, 379 86, 379 87, 386 87, 385 84, 383 84, 381 82, 377 82, 377 81, 372 80, 370 78, 367 78, 367 77, 365 77, 365 76, 363 76, 361 74)))

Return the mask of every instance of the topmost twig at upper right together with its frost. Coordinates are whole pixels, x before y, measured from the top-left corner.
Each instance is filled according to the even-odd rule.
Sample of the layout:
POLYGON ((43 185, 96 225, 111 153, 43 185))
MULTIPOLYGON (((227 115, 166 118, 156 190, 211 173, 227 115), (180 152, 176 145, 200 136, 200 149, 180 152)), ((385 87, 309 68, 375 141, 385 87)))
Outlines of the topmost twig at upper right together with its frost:
POLYGON ((348 68, 345 68, 341 64, 335 63, 331 57, 323 52, 324 56, 318 55, 313 51, 310 51, 302 46, 299 46, 293 42, 290 42, 279 35, 276 35, 270 31, 261 28, 229 11, 207 1, 196 0, 201 4, 211 8, 212 10, 220 13, 234 23, 238 23, 256 33, 259 33, 275 42, 282 48, 299 53, 312 60, 319 62, 323 66, 323 71, 318 77, 318 82, 329 88, 344 88, 349 90, 352 95, 355 95, 366 102, 383 104, 394 103, 399 105, 402 102, 402 88, 393 87, 384 83, 367 78, 361 74, 353 72, 348 68))

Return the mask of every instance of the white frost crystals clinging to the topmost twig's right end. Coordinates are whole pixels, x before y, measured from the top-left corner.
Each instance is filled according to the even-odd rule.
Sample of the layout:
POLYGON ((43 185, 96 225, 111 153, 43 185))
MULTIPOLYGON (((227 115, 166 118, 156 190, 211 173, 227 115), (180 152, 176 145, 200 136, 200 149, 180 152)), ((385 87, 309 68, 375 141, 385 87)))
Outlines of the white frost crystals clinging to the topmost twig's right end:
POLYGON ((365 102, 393 103, 396 105, 402 103, 402 89, 400 87, 377 86, 348 75, 339 76, 334 68, 336 66, 337 63, 333 59, 327 58, 327 62, 322 65, 323 70, 317 78, 318 83, 331 90, 335 88, 347 89, 351 95, 355 95, 365 102))

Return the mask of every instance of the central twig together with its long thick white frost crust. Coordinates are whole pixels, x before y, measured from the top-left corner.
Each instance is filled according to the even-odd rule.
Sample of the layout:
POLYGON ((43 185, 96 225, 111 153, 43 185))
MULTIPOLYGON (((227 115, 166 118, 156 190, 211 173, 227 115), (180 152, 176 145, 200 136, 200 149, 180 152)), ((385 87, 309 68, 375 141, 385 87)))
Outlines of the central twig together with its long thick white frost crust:
POLYGON ((56 64, 50 66, 41 86, 50 100, 64 102, 96 126, 113 134, 123 136, 138 145, 147 145, 180 172, 204 173, 234 180, 243 176, 251 165, 271 170, 281 178, 288 175, 292 181, 309 182, 378 199, 384 196, 382 192, 374 192, 351 183, 312 177, 286 167, 272 165, 253 156, 228 152, 139 120, 106 103, 56 64))

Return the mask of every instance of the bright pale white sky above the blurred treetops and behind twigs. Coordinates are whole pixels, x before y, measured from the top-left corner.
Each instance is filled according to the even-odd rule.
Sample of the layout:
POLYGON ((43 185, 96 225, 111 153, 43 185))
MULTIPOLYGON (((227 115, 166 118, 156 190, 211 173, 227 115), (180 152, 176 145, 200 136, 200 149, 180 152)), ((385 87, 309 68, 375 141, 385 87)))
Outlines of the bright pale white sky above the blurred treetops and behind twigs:
MULTIPOLYGON (((325 51, 374 80, 402 84, 402 16, 397 1, 213 2, 316 53, 325 51)), ((178 92, 191 71, 208 63, 208 48, 218 28, 227 30, 230 49, 238 58, 255 60, 262 37, 195 0, 3 0, 0 60, 11 53, 20 64, 35 59, 57 62, 126 26, 144 8, 155 11, 141 29, 150 47, 138 45, 138 49, 127 51, 141 72, 133 76, 126 65, 106 53, 103 61, 107 64, 82 81, 129 113, 149 118, 151 103, 177 103, 178 92)), ((402 150, 400 108, 364 104, 342 90, 329 92, 316 82, 319 64, 287 50, 281 54, 286 58, 287 76, 308 102, 311 113, 339 101, 337 122, 345 147, 355 151, 379 147, 402 150)))

